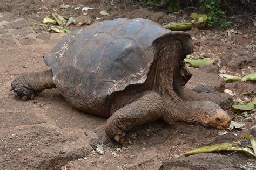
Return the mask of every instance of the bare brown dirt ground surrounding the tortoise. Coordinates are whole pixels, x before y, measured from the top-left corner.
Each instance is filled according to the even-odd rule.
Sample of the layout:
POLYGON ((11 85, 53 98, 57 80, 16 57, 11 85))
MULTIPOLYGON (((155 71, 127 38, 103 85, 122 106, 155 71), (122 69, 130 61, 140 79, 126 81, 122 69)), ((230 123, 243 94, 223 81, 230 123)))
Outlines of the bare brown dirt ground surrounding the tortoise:
MULTIPOLYGON (((49 69, 43 56, 65 34, 49 33, 30 22, 42 19, 62 2, 51 1, 0 2, 0 167, 1 169, 239 169, 255 159, 244 153, 211 153, 185 157, 184 153, 224 141, 239 139, 242 133, 256 136, 255 109, 247 115, 227 112, 234 120, 246 123, 244 129, 233 129, 219 136, 219 130, 201 125, 177 123, 168 125, 155 121, 129 131, 124 145, 110 140, 105 132, 106 119, 73 109, 57 89, 45 90, 34 100, 16 100, 8 90, 15 76, 23 72, 49 69), (251 129, 250 129, 251 128, 251 129), (104 154, 96 151, 103 146, 104 154)), ((119 17, 147 18, 159 24, 189 20, 186 11, 165 13, 151 11, 138 3, 111 1, 76 1, 68 9, 57 12, 67 17, 102 20, 119 17), (90 6, 83 15, 74 8, 90 6), (141 8, 142 7, 142 8, 141 8), (108 10, 109 16, 99 14, 108 10)), ((71 2, 71 1, 70 1, 71 2)), ((77 27, 71 26, 70 30, 77 27)), ((191 58, 215 59, 213 66, 190 68, 194 74, 188 87, 211 85, 220 91, 232 90, 235 104, 250 102, 256 95, 252 82, 225 84, 218 74, 244 76, 256 70, 256 27, 247 23, 232 25, 227 31, 218 29, 188 31, 192 35, 194 53, 191 58), (242 95, 249 92, 250 95, 242 95)))

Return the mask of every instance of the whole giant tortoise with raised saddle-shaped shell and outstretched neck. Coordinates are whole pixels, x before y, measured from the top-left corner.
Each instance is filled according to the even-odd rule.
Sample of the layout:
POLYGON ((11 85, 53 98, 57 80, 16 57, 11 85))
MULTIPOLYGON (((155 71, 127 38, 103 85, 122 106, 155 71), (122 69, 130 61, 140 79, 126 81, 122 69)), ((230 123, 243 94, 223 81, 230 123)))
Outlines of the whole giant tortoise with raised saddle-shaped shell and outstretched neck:
POLYGON ((159 118, 228 128, 217 91, 184 87, 191 74, 183 59, 192 52, 189 34, 151 20, 98 22, 73 31, 44 56, 50 70, 18 75, 10 90, 26 101, 57 88, 74 108, 108 118, 105 132, 119 143, 127 130, 159 118))

